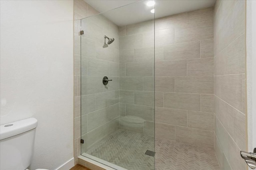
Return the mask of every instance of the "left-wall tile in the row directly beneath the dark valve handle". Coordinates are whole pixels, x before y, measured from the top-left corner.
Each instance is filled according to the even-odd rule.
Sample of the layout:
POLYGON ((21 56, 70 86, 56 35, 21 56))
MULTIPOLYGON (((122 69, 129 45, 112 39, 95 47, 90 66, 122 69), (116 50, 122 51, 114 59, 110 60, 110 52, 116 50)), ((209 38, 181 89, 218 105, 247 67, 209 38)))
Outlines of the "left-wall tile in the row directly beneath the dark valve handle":
POLYGON ((96 110, 115 104, 115 92, 103 92, 96 94, 96 110))

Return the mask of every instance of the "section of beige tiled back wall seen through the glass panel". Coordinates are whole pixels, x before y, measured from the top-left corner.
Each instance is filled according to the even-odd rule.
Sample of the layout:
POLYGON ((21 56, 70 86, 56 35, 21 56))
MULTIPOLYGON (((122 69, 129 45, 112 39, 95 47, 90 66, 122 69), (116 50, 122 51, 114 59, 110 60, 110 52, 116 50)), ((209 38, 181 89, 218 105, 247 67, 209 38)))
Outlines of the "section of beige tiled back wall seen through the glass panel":
POLYGON ((119 128, 154 136, 154 21, 119 27, 119 35, 119 128))

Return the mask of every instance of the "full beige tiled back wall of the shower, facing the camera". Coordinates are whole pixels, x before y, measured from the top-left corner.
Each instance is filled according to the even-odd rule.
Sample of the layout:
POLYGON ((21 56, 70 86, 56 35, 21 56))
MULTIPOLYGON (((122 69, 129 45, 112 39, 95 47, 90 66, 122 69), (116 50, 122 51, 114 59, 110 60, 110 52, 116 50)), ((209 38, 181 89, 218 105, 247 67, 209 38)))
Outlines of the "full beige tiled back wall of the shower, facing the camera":
POLYGON ((155 74, 156 137, 214 147, 213 13, 156 19, 155 64, 153 21, 119 28, 121 129, 154 135, 155 74))

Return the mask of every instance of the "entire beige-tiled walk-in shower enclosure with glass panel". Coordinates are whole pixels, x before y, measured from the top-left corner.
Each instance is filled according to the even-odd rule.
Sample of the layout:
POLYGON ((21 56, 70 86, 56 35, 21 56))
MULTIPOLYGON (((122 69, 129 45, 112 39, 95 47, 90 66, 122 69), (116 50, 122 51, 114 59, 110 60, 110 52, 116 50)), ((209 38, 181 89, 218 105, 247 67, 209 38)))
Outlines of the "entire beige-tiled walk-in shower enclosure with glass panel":
POLYGON ((75 34, 80 158, 117 170, 246 169, 245 1, 143 0, 102 13, 77 2, 90 13, 75 34))

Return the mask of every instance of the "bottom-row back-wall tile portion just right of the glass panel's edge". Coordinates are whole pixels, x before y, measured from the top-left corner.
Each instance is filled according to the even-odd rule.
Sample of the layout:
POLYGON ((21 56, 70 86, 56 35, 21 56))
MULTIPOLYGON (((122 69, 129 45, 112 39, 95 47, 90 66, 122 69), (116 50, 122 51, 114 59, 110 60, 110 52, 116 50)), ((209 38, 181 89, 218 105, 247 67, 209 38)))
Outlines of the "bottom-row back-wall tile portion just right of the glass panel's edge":
POLYGON ((175 140, 175 126, 168 125, 164 123, 155 123, 155 133, 156 137, 169 139, 174 141, 175 140))

